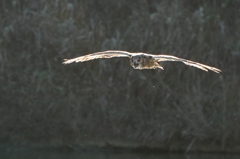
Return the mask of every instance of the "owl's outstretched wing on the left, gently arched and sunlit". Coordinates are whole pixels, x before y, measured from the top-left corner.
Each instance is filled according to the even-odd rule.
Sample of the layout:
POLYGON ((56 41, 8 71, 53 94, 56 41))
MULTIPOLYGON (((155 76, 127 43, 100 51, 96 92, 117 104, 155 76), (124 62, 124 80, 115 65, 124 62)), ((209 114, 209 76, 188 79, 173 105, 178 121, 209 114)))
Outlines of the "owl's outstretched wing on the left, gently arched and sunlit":
POLYGON ((84 62, 94 59, 100 59, 100 58, 112 58, 112 57, 131 57, 132 53, 127 51, 117 51, 117 50, 109 50, 109 51, 103 51, 103 52, 96 52, 93 54, 88 54, 84 56, 79 56, 73 59, 64 59, 65 61, 63 64, 69 64, 72 62, 84 62))

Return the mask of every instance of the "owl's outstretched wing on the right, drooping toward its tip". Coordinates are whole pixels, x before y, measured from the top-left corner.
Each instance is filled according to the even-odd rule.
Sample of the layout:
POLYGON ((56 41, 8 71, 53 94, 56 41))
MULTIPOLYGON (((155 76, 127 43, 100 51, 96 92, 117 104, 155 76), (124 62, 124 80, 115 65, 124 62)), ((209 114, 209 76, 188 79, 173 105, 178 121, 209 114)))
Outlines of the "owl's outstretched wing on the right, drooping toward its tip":
POLYGON ((221 70, 218 69, 218 68, 211 67, 211 66, 208 66, 208 65, 204 65, 204 64, 201 64, 201 63, 198 63, 198 62, 194 62, 194 61, 178 58, 176 56, 153 55, 153 58, 155 58, 157 62, 161 62, 161 61, 180 61, 180 62, 183 62, 184 64, 186 64, 188 66, 197 67, 197 68, 199 68, 201 70, 204 70, 204 71, 211 70, 211 71, 216 72, 216 73, 221 72, 221 70))

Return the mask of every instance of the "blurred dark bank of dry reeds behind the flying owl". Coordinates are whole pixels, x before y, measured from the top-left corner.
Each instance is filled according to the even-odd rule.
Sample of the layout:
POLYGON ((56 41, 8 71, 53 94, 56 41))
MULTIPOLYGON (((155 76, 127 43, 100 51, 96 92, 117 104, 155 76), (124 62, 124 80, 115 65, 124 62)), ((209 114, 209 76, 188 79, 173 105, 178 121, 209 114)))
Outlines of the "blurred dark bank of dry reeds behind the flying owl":
POLYGON ((0 142, 238 151, 239 0, 1 0, 0 142), (169 54, 164 71, 124 50, 169 54))

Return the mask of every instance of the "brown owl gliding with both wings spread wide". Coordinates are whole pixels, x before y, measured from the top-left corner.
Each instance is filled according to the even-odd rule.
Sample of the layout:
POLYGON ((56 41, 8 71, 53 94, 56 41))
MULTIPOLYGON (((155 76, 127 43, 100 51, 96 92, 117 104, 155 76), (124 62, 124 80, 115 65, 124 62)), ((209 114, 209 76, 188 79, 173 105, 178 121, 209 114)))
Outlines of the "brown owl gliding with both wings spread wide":
POLYGON ((118 50, 109 50, 103 52, 96 52, 93 54, 88 54, 80 57, 76 57, 73 59, 64 59, 63 64, 69 64, 72 62, 84 62, 99 58, 112 58, 112 57, 128 57, 130 58, 130 65, 134 69, 162 69, 163 67, 159 64, 162 61, 180 61, 186 65, 197 67, 201 70, 208 71, 211 70, 213 72, 219 73, 220 69, 214 68, 211 66, 207 66, 201 63, 197 63, 194 61, 178 58, 176 56, 171 55, 153 55, 147 53, 130 53, 127 51, 118 51, 118 50))

